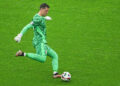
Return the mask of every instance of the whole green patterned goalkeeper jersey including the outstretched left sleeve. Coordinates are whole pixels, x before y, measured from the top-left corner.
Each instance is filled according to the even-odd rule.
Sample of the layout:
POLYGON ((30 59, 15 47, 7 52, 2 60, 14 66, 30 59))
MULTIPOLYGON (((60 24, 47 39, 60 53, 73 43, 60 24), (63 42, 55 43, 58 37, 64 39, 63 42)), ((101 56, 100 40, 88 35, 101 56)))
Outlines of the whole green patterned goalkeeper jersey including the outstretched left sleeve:
POLYGON ((46 43, 46 23, 45 18, 36 14, 33 17, 33 20, 30 24, 26 25, 22 31, 20 32, 22 35, 29 29, 33 28, 34 30, 34 37, 33 37, 33 44, 37 45, 38 43, 46 43))

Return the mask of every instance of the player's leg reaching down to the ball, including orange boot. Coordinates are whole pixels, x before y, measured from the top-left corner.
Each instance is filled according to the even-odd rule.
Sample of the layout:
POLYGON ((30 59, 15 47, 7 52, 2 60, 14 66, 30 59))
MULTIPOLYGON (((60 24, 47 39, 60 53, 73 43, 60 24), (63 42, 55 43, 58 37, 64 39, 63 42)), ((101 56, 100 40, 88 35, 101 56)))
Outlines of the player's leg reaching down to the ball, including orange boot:
POLYGON ((47 46, 47 55, 52 58, 52 67, 53 67, 53 78, 60 78, 61 75, 58 74, 58 55, 57 53, 47 46))

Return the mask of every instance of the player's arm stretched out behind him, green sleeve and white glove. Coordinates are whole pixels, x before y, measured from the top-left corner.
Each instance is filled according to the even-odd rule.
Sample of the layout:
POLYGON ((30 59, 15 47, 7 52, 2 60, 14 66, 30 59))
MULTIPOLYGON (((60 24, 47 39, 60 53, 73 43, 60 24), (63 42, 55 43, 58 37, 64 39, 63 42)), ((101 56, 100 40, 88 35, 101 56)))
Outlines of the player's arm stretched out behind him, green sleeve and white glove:
POLYGON ((27 32, 27 30, 29 30, 29 29, 31 29, 31 28, 33 28, 32 22, 31 22, 30 24, 27 24, 27 25, 21 30, 21 32, 14 38, 14 40, 19 43, 19 42, 21 41, 22 36, 27 32))

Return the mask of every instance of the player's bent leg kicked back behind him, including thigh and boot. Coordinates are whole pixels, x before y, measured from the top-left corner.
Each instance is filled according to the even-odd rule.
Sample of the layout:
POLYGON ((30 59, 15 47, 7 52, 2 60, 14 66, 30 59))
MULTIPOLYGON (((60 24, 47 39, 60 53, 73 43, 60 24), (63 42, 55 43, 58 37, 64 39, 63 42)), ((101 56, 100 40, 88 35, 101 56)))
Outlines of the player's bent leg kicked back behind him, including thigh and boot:
POLYGON ((41 43, 39 45, 35 46, 36 49, 36 54, 34 53, 24 53, 22 51, 18 51, 16 53, 16 56, 27 56, 28 58, 40 61, 40 62, 45 62, 46 61, 46 53, 45 53, 45 47, 44 44, 41 43))

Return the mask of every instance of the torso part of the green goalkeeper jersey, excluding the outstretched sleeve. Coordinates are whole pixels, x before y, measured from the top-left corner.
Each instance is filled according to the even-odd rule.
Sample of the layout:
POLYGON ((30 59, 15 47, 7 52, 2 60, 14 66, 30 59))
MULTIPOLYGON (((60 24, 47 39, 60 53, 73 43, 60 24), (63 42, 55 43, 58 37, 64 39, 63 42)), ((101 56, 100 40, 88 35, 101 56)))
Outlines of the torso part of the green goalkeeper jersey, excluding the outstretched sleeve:
POLYGON ((34 38, 35 42, 45 42, 46 39, 46 23, 45 18, 36 14, 33 17, 34 38))

